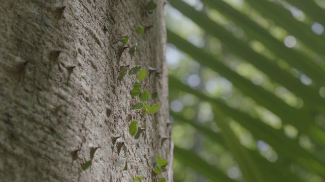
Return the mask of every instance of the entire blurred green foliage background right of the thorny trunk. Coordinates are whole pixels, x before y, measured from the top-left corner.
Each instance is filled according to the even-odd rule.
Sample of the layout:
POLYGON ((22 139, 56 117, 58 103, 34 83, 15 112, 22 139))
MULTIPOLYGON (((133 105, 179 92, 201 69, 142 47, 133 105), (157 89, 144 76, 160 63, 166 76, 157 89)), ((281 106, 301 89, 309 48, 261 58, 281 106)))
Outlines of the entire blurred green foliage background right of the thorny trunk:
POLYGON ((174 181, 325 181, 325 1, 165 10, 174 181))

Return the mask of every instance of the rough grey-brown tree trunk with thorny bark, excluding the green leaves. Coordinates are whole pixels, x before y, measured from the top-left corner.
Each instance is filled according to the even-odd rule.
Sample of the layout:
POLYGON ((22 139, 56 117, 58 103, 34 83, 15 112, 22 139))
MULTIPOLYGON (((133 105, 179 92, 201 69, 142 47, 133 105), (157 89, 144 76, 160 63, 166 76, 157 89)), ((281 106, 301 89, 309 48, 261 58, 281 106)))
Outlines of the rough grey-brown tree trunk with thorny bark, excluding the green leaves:
POLYGON ((152 14, 147 3, 2 1, 1 181, 133 181, 137 175, 172 181, 164 2, 155 0, 152 14), (153 27, 138 35, 138 25, 153 27), (121 44, 113 42, 125 35, 138 47, 119 60, 121 44), (132 110, 140 100, 129 93, 137 79, 126 74, 119 81, 125 65, 147 70, 140 81, 149 93, 158 92, 146 101, 160 103, 155 114, 141 119, 141 111, 132 110), (149 67, 159 70, 149 75, 149 67), (146 123, 138 145, 129 134, 133 120, 146 123), (153 173, 155 155, 168 159, 169 171, 153 173), (125 162, 113 166, 122 158, 127 170, 125 162))

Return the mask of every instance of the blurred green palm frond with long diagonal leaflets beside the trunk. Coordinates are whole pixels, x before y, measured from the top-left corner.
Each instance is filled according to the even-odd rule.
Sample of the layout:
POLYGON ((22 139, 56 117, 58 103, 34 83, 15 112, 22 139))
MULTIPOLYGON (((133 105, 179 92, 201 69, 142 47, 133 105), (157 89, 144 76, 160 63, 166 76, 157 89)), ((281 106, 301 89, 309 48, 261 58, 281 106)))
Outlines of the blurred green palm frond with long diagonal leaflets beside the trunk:
MULTIPOLYGON (((249 63, 263 72, 271 79, 270 84, 281 85, 302 99, 303 107, 289 106, 283 99, 279 98, 274 90, 256 85, 247 77, 243 77, 237 70, 226 64, 222 56, 212 53, 212 49, 199 48, 169 28, 167 29, 168 42, 197 61, 201 69, 216 72, 231 81, 236 93, 244 94, 244 96, 255 101, 253 103, 255 106, 263 106, 277 115, 283 125, 291 125, 297 128, 297 137, 288 138, 283 127, 275 129, 263 122, 261 116, 257 117, 252 113, 244 112, 232 106, 229 100, 206 94, 202 85, 198 87, 189 86, 184 84, 183 78, 172 75, 169 78, 171 93, 178 93, 178 96, 182 96, 184 93, 190 94, 200 102, 209 103, 214 115, 213 120, 220 132, 212 131, 211 128, 193 121, 198 120, 197 116, 184 117, 185 113, 189 113, 188 111, 185 112, 188 106, 181 113, 171 111, 171 116, 176 123, 187 123, 193 126, 204 137, 209 138, 222 146, 226 152, 231 153, 246 181, 309 181, 310 177, 303 177, 303 173, 309 175, 316 173, 318 174, 317 179, 325 180, 325 158, 321 155, 325 146, 325 131, 319 127, 319 123, 315 124, 314 122, 317 114, 317 116, 322 116, 325 113, 325 99, 323 98, 325 94, 322 93, 325 85, 323 62, 325 38, 323 35, 316 35, 311 30, 313 21, 325 25, 325 20, 323 20, 325 11, 315 1, 245 0, 243 5, 246 8, 235 8, 229 2, 226 0, 202 0, 204 4, 202 11, 181 0, 172 0, 170 4, 194 23, 194 26, 202 28, 207 36, 212 36, 226 45, 231 54, 240 59, 240 62, 249 63), (293 6, 301 9, 307 19, 304 21, 296 20, 289 11, 293 6), (245 38, 235 37, 224 24, 212 20, 207 13, 212 10, 240 27, 245 38), (270 33, 268 28, 260 26, 255 20, 251 19, 247 12, 249 10, 256 11, 259 16, 271 22, 269 23, 270 26, 282 27, 287 31, 287 35, 295 36, 302 46, 299 49, 286 47, 282 40, 270 33), (272 56, 255 52, 250 46, 250 41, 261 42, 272 56), (318 61, 315 59, 316 57, 319 58, 318 61), (279 66, 279 60, 285 62, 287 66, 279 66), (297 70, 297 73, 293 73, 293 69, 297 70), (300 80, 302 75, 310 77, 312 83, 303 84, 303 81, 300 80), (278 161, 269 162, 262 156, 262 153, 244 147, 236 134, 238 131, 234 130, 230 120, 235 120, 241 127, 247 129, 253 136, 253 140, 262 140, 270 145, 277 153, 278 161), (310 143, 314 146, 313 149, 306 149, 302 145, 303 136, 308 136, 311 140, 310 143), (294 170, 295 166, 298 166, 298 169, 294 170)), ((205 40, 219 44, 214 39, 205 40)), ((197 150, 194 151, 197 153, 197 150)), ((210 165, 194 152, 184 150, 177 145, 175 147, 175 158, 213 181, 233 180, 227 177, 221 169, 210 165)))

